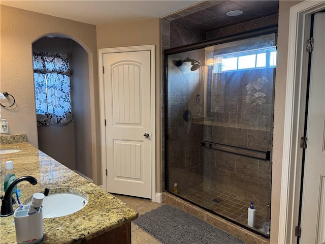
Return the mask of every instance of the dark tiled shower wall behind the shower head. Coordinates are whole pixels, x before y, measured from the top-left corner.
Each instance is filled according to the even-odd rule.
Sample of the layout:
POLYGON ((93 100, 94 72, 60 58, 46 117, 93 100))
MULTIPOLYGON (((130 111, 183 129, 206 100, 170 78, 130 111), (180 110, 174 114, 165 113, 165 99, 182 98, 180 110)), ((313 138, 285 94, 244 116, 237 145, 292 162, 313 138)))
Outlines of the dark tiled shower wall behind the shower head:
POLYGON ((203 71, 191 71, 190 62, 174 65, 175 60, 186 57, 204 60, 204 50, 175 54, 168 60, 168 186, 173 190, 177 183, 179 192, 203 183, 203 107, 196 101, 198 93, 203 95, 203 71), (186 110, 191 113, 188 121, 184 119, 186 110))

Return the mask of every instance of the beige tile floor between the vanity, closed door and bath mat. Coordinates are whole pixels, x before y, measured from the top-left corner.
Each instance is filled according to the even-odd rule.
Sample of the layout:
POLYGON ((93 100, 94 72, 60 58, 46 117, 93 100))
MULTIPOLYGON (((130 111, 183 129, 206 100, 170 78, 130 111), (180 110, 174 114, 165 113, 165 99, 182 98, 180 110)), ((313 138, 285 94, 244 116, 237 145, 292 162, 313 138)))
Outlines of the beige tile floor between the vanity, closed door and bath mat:
MULTIPOLYGON (((124 195, 112 194, 116 198, 125 202, 127 205, 135 208, 139 212, 139 216, 149 212, 165 203, 152 202, 150 199, 138 198, 138 197, 129 197, 124 195)), ((149 235, 147 232, 139 228, 134 223, 131 223, 131 239, 132 244, 162 244, 156 238, 149 235)))

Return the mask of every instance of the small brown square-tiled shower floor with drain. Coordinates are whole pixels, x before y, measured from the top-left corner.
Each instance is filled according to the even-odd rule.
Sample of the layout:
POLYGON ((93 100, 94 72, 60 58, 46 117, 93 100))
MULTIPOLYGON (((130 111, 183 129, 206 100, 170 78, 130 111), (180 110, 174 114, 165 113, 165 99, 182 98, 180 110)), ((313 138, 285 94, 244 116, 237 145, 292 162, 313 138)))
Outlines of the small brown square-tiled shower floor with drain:
MULTIPOLYGON (((210 190, 204 191, 203 184, 182 191, 178 195, 226 218, 247 225, 247 208, 250 206, 251 201, 249 198, 216 188, 212 188, 211 192, 210 190)), ((270 209, 268 206, 259 205, 258 202, 254 202, 254 205, 256 208, 255 229, 261 232, 269 219, 270 209)), ((264 233, 264 231, 262 232, 264 233)))

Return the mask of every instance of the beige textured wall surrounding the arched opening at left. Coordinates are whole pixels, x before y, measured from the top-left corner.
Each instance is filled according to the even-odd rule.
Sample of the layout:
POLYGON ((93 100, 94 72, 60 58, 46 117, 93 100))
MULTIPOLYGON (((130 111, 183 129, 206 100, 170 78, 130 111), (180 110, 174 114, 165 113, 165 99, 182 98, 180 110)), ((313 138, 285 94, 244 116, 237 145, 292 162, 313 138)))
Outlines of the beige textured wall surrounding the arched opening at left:
POLYGON ((9 123, 10 134, 27 135, 27 141, 38 147, 31 44, 47 34, 61 34, 78 42, 88 53, 92 135, 86 150, 92 156, 93 180, 101 182, 100 127, 98 95, 98 62, 96 27, 68 19, 1 6, 1 92, 16 99, 10 109, 1 110, 9 123))

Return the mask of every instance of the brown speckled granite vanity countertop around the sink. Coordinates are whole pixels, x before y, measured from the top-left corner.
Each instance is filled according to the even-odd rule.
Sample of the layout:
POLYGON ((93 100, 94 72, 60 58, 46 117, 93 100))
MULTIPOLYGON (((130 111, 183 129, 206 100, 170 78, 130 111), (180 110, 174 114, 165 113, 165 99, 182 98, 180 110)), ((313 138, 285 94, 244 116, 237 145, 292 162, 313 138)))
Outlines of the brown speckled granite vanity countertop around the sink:
MULTIPOLYGON (((40 243, 81 243, 138 217, 137 210, 27 142, 1 145, 1 149, 21 149, 18 153, 1 155, 1 195, 5 195, 5 162, 12 160, 16 178, 30 175, 38 179, 35 186, 27 181, 18 184, 22 203, 33 193, 43 193, 45 188, 74 188, 85 192, 89 197, 88 204, 72 215, 44 219, 44 238, 40 243)), ((0 218, 1 243, 17 243, 13 220, 13 215, 0 218)))

